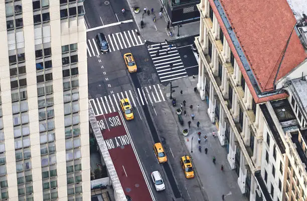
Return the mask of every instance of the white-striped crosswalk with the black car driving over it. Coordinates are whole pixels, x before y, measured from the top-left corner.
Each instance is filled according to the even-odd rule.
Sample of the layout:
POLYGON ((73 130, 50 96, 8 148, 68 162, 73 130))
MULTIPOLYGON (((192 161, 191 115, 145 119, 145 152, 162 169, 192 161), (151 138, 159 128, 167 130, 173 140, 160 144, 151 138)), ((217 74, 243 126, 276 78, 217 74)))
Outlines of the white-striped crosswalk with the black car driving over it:
MULTIPOLYGON (((137 30, 118 32, 106 35, 105 37, 109 44, 110 52, 144 44, 144 40, 137 34, 137 30)), ((87 40, 87 54, 89 57, 101 54, 94 38, 87 40)))

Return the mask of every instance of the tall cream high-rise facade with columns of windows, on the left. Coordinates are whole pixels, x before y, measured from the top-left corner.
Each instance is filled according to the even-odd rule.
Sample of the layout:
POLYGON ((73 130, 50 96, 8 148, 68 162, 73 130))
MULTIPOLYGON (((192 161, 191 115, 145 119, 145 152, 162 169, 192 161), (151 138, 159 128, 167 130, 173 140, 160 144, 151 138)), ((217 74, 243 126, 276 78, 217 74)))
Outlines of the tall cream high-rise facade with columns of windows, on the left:
POLYGON ((83 1, 0 9, 0 199, 90 200, 83 1))

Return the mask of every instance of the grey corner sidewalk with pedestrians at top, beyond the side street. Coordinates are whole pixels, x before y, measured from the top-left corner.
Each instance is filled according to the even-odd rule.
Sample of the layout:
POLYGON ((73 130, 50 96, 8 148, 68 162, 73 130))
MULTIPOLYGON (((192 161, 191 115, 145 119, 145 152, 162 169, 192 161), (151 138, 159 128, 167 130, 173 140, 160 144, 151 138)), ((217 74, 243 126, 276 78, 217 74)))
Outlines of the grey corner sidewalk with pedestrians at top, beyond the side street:
POLYGON ((200 22, 198 21, 182 25, 182 27, 179 28, 179 37, 177 37, 178 27, 171 27, 170 29, 173 33, 173 37, 168 36, 167 24, 170 20, 165 10, 163 11, 163 17, 160 18, 159 12, 160 8, 162 7, 162 3, 160 0, 127 0, 127 3, 130 7, 130 11, 133 15, 137 28, 143 39, 146 41, 160 43, 164 42, 165 39, 170 41, 199 34, 200 22), (140 8, 140 12, 138 14, 135 14, 133 12, 132 8, 134 7, 140 8), (144 15, 144 28, 141 28, 140 21, 142 20, 144 8, 147 8, 150 11, 150 15, 144 15), (151 8, 154 8, 154 14, 156 15, 157 19, 156 23, 154 23, 154 21, 152 20, 154 16, 151 14, 151 8))

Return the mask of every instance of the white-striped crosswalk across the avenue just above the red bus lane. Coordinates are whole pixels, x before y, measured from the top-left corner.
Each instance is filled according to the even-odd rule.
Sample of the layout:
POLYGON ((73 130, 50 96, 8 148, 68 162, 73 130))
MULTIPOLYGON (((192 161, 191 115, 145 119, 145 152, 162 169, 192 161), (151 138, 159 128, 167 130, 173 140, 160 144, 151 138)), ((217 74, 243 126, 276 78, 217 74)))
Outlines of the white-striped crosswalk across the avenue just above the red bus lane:
POLYGON ((90 99, 89 102, 92 105, 95 115, 98 116, 120 111, 119 101, 123 98, 127 98, 130 105, 136 108, 141 105, 152 105, 166 100, 158 84, 137 88, 136 94, 134 91, 127 90, 124 92, 112 93, 104 97, 93 98, 90 99))

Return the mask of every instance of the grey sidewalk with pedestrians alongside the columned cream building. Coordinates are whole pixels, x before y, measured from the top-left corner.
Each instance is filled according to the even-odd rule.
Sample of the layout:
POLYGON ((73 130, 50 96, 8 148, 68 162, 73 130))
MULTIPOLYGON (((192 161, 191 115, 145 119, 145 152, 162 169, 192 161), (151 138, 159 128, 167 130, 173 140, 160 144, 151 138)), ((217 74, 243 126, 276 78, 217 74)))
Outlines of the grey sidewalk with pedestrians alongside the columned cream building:
MULTIPOLYGON (((212 136, 212 131, 217 132, 217 128, 209 120, 207 110, 208 105, 200 99, 198 93, 194 92, 194 87, 197 84, 197 76, 195 79, 193 77, 187 77, 179 79, 172 82, 173 86, 179 86, 176 88, 176 92, 173 93, 173 97, 176 98, 177 107, 172 106, 172 101, 170 97, 170 85, 165 87, 165 92, 168 96, 169 105, 173 109, 173 115, 177 120, 176 109, 180 108, 180 103, 186 100, 186 111, 187 116, 182 116, 184 119, 184 126, 181 126, 177 120, 179 130, 189 128, 188 121, 191 121, 191 128, 189 129, 189 135, 184 138, 185 144, 189 150, 189 155, 193 158, 193 165, 196 168, 197 176, 199 176, 203 186, 204 191, 207 193, 209 201, 219 201, 222 200, 222 194, 225 195, 226 201, 246 201, 247 198, 241 194, 239 186, 237 184, 238 175, 232 169, 230 169, 229 163, 227 161, 227 152, 224 147, 220 145, 219 139, 212 136), (183 90, 183 95, 180 91, 183 90), (193 105, 193 110, 190 109, 190 105, 193 105), (197 109, 199 105, 199 111, 197 109), (195 114, 194 121, 191 118, 191 114, 195 114), (199 128, 197 128, 197 122, 200 122, 199 128), (198 150, 198 135, 201 132, 201 147, 202 152, 198 150), (205 134, 208 136, 207 141, 204 141, 205 134), (191 153, 191 143, 193 138, 193 153, 191 153), (189 139, 189 141, 188 141, 189 139), (205 148, 208 148, 208 154, 205 154, 205 148), (216 164, 212 162, 212 157, 216 157, 216 164), (221 164, 224 165, 224 171, 221 171, 221 164)), ((183 109, 183 111, 185 108, 183 109)))

